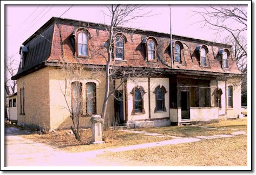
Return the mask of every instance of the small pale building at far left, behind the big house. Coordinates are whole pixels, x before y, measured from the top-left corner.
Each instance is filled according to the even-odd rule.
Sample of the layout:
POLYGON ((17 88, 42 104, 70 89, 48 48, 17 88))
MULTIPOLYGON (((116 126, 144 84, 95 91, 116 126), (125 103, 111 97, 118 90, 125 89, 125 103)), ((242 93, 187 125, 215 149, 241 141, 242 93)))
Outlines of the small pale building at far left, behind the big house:
POLYGON ((17 93, 11 94, 8 97, 9 100, 9 121, 17 122, 18 113, 17 113, 17 93))

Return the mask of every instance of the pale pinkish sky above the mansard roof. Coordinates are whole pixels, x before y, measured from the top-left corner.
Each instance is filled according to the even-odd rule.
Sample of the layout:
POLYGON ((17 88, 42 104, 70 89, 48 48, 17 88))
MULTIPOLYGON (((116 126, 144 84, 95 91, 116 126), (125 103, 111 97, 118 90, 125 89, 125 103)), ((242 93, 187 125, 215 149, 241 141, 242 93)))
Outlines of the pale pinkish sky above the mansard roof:
MULTIPOLYGON (((208 27, 195 23, 198 22, 199 17, 193 16, 193 11, 201 10, 200 6, 202 5, 172 5, 172 33, 220 42, 221 37, 227 33, 218 36, 208 27)), ((19 47, 53 16, 108 24, 108 18, 103 13, 107 12, 105 5, 75 4, 70 7, 71 4, 5 4, 5 55, 13 56, 15 66, 18 67, 19 47)), ((170 33, 168 4, 146 5, 141 13, 144 12, 150 12, 150 15, 128 23, 127 27, 170 33)))

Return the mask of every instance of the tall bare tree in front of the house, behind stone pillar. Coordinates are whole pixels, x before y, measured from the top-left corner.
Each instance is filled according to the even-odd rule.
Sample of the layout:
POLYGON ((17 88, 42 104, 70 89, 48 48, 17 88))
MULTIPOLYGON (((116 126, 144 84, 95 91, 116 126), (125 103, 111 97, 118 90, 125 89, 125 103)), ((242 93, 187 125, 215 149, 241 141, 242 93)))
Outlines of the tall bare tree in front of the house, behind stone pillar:
MULTIPOLYGON (((124 27, 120 27, 121 25, 125 25, 129 22, 131 22, 134 19, 146 17, 149 15, 150 12, 142 13, 139 15, 139 11, 143 10, 143 5, 121 5, 121 4, 111 4, 108 6, 108 12, 104 13, 106 16, 108 16, 110 20, 110 24, 106 25, 106 31, 108 31, 108 42, 105 44, 104 47, 102 47, 102 50, 96 51, 94 50, 94 53, 97 53, 99 55, 102 55, 104 59, 106 60, 106 75, 104 77, 106 78, 106 86, 105 86, 105 94, 104 94, 104 102, 102 106, 102 119, 103 122, 106 118, 106 110, 107 110, 107 104, 109 96, 113 95, 116 88, 122 85, 124 81, 127 81, 127 79, 134 77, 135 74, 137 74, 136 70, 126 70, 126 71, 120 71, 118 68, 116 69, 115 64, 113 64, 113 50, 114 50, 114 40, 113 36, 115 32, 123 32, 124 30, 129 30, 124 27), (107 51, 107 55, 103 52, 107 51), (120 85, 117 86, 115 89, 110 91, 111 81, 121 79, 120 85)), ((130 31, 133 32, 133 31, 130 31)), ((147 71, 146 71, 147 72, 147 71)), ((140 72, 141 76, 142 72, 140 72)))

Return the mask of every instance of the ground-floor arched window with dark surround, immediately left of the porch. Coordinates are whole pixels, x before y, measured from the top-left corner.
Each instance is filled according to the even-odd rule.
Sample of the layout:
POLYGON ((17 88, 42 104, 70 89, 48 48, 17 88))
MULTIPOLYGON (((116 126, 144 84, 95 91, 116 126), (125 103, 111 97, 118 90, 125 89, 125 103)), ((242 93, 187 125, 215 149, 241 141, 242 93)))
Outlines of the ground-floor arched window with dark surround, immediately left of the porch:
POLYGON ((165 94, 166 88, 163 86, 157 86, 155 88, 155 112, 156 111, 166 111, 165 107, 165 94))

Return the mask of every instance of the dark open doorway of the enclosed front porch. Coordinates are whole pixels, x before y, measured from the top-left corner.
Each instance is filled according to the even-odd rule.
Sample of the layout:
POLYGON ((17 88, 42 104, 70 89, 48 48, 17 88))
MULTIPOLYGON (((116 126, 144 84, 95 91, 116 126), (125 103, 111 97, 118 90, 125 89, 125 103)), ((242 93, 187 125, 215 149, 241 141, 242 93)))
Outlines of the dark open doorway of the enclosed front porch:
POLYGON ((181 119, 190 119, 189 116, 189 92, 181 92, 181 119))

